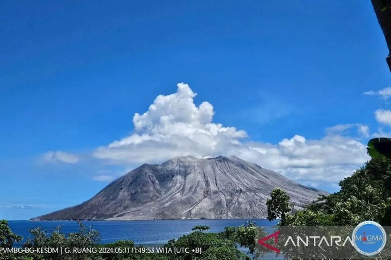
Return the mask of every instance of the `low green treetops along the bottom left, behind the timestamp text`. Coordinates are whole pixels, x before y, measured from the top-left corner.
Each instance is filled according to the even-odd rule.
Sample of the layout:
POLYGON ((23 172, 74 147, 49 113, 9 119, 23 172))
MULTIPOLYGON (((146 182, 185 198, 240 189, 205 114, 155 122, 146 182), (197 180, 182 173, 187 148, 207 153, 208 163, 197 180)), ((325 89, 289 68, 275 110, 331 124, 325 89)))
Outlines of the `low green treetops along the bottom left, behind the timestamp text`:
MULTIPOLYGON (((15 235, 8 227, 7 221, 2 220, 0 225, 0 247, 12 248, 14 242, 22 237, 15 235)), ((0 253, 0 260, 249 260, 248 255, 242 253, 238 245, 247 246, 251 253, 255 253, 255 243, 262 231, 255 223, 248 222, 239 227, 228 227, 220 233, 207 233, 208 226, 195 226, 193 232, 184 235, 178 240, 170 240, 163 245, 165 253, 148 253, 147 248, 135 246, 131 240, 120 240, 110 244, 98 244, 100 238, 96 230, 88 228, 79 222, 79 230, 65 235, 61 233, 62 226, 58 226, 52 233, 41 228, 30 230, 31 239, 23 243, 22 248, 100 248, 104 253, 0 253), (134 248, 133 252, 123 251, 116 253, 118 248, 134 248), (174 248, 190 248, 190 251, 175 252, 174 248), (111 252, 110 249, 113 249, 111 252), (170 251, 171 249, 171 251, 170 251), (195 249, 191 251, 191 249, 195 249)), ((0 251, 1 252, 1 251, 0 251)))

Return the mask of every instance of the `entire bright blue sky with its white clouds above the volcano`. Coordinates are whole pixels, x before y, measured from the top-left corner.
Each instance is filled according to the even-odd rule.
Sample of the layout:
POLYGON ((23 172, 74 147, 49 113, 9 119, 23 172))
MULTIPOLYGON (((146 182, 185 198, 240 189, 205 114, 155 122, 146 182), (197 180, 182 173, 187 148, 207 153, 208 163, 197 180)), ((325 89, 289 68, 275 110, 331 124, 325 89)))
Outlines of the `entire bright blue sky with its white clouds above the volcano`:
POLYGON ((0 23, 0 218, 183 154, 336 191, 389 135, 370 1, 9 1, 0 23))

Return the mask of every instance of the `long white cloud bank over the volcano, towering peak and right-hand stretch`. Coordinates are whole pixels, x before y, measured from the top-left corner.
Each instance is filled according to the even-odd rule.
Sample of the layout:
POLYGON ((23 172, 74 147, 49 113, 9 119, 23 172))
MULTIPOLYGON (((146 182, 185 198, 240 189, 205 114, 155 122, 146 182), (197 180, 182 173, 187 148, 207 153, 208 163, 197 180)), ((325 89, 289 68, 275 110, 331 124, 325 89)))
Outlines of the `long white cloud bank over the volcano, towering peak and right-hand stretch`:
POLYGON ((294 135, 277 144, 251 141, 244 130, 213 123, 212 104, 203 102, 197 107, 196 95, 184 83, 178 84, 174 94, 159 95, 147 112, 134 115, 133 134, 97 148, 93 155, 131 164, 160 163, 183 155, 235 155, 313 185, 338 182, 369 159, 364 144, 343 135, 354 126, 368 137, 366 125, 334 126, 314 140, 294 135))

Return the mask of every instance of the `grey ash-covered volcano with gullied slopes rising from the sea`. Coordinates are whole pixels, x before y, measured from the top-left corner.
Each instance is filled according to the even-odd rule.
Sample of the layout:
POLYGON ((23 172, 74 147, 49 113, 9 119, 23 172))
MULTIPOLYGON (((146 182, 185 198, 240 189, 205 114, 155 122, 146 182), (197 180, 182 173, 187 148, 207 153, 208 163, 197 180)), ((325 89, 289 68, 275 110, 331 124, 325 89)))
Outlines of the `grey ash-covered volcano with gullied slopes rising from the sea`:
POLYGON ((327 194, 237 157, 186 156, 143 164, 88 201, 32 220, 264 218, 275 187, 297 207, 327 194))

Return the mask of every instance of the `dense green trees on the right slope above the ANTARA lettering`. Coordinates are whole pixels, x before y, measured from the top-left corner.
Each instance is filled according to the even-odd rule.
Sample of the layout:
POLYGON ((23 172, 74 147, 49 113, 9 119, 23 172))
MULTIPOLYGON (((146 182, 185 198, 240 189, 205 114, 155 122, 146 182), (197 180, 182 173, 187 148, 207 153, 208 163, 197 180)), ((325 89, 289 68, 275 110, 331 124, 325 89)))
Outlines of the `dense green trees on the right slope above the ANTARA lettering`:
MULTIPOLYGON (((371 220, 382 226, 391 226, 391 159, 371 158, 364 167, 355 171, 339 183, 339 192, 321 196, 304 210, 292 213, 289 196, 281 189, 274 189, 271 198, 267 200, 268 217, 270 221, 280 218, 278 226, 290 226, 298 229, 300 226, 356 226, 371 220)), ((293 228, 293 229, 294 229, 293 228)), ((331 229, 331 228, 330 228, 331 229)), ((341 228, 341 233, 344 232, 341 228)), ((323 230, 326 230, 324 228, 323 230)), ((346 229, 347 230, 347 229, 346 229)), ((351 235, 351 231, 350 231, 351 235)), ((391 240, 388 234, 387 240, 391 240)), ((289 249, 287 249, 289 250, 289 249)), ((298 248, 294 255, 297 255, 298 248)), ((328 249, 328 250, 334 250, 328 249)), ((339 255, 344 248, 335 248, 339 255)), ((334 251, 333 251, 334 252, 334 251)), ((314 252, 319 255, 319 252, 314 252)), ((284 252, 285 257, 290 257, 284 252)), ((362 257, 353 251, 350 258, 362 257)), ((390 259, 389 251, 382 252, 373 259, 390 259)))

